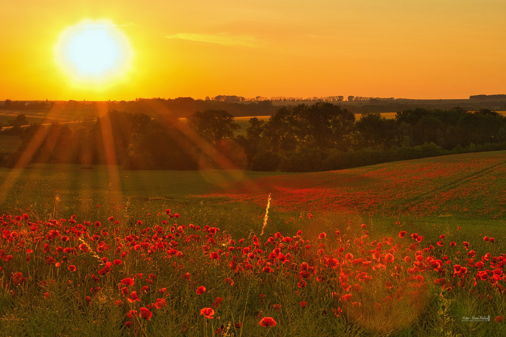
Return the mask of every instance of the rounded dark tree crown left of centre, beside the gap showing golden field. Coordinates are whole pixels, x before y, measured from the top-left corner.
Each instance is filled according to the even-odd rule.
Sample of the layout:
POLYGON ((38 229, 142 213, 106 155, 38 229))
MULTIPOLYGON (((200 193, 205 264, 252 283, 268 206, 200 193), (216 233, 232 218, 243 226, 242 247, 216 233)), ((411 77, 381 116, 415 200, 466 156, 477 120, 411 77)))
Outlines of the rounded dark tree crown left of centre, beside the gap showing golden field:
POLYGON ((208 141, 221 145, 222 141, 234 136, 241 127, 234 122, 234 116, 225 110, 207 109, 197 111, 187 118, 188 124, 208 141))

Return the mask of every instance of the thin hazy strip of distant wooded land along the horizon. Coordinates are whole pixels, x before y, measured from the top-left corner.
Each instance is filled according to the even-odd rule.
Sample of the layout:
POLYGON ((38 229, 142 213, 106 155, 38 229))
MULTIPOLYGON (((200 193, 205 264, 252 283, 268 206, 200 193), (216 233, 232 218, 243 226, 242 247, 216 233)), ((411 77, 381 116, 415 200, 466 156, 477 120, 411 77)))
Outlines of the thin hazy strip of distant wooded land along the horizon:
MULTIPOLYGON (((482 98, 473 100, 463 100, 459 103, 463 109, 476 111, 481 108, 490 110, 506 111, 506 95, 475 95, 471 98, 482 98), (485 98, 502 99, 502 101, 484 100, 485 98)), ((416 100, 394 99, 394 98, 373 98, 361 96, 349 96, 348 101, 343 102, 343 96, 325 96, 325 97, 256 97, 244 98, 236 95, 218 95, 213 98, 206 97, 205 100, 194 100, 191 97, 178 97, 176 99, 136 99, 135 101, 73 101, 68 102, 24 102, 6 100, 4 106, 0 108, 5 110, 52 110, 71 113, 85 113, 88 119, 103 116, 107 111, 125 111, 133 114, 143 113, 151 117, 156 117, 160 112, 175 114, 180 118, 186 118, 195 111, 204 111, 207 109, 226 110, 235 117, 243 116, 271 116, 276 113, 277 107, 273 103, 285 103, 286 105, 297 105, 300 103, 310 104, 310 102, 332 102, 346 108, 354 114, 365 112, 395 113, 398 111, 414 108, 450 110, 455 103, 445 100, 431 100, 420 102, 416 100)))

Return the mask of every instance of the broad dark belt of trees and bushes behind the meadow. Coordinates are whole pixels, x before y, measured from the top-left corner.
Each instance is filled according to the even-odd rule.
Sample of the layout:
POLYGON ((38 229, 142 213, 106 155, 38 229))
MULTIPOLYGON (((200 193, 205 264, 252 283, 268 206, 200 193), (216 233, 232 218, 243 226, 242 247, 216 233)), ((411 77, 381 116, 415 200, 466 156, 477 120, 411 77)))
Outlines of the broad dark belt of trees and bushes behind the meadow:
MULTIPOLYGON (((21 145, 2 153, 3 166, 19 163, 28 145, 31 162, 117 163, 124 169, 248 168, 319 171, 445 154, 506 150, 506 118, 481 109, 468 112, 416 108, 386 119, 364 113, 359 120, 331 103, 278 107, 267 121, 251 118, 245 135, 223 109, 197 111, 187 123, 174 113, 156 117, 109 111, 77 128, 62 124, 15 126, 21 145), (33 152, 33 144, 38 150, 33 152)), ((19 165, 19 164, 18 164, 19 165)))

